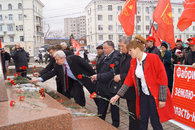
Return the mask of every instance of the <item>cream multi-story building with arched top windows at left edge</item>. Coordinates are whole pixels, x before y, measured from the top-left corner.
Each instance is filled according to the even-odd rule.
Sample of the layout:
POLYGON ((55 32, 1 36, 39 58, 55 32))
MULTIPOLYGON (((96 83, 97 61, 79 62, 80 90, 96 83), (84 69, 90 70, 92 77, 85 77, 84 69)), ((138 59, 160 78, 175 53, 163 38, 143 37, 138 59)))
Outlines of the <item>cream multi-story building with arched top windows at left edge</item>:
POLYGON ((34 55, 44 43, 44 5, 40 0, 0 0, 0 38, 4 48, 16 43, 34 55))

